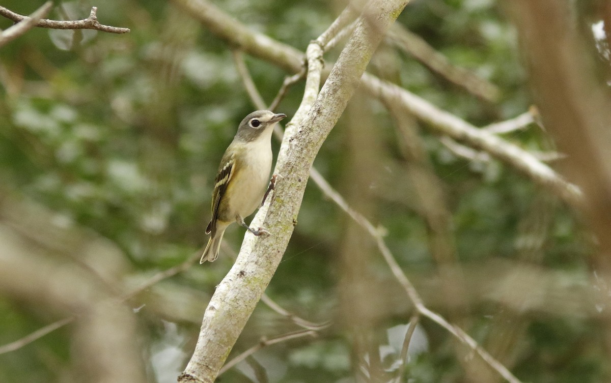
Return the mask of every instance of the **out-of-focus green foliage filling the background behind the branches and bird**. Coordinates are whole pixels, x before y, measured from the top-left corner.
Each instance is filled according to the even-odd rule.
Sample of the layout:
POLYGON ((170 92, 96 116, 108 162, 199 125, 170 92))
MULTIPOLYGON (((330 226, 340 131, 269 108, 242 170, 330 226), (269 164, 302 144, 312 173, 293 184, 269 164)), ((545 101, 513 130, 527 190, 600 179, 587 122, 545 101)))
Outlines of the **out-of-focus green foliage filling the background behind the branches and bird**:
MULTIPOLYGON (((40 4, 7 0, 2 5, 25 14, 40 4)), ((98 5, 101 23, 130 27, 131 33, 35 29, 0 50, 0 177, 5 190, 53 210, 62 224, 89 227, 112 240, 131 265, 130 277, 144 280, 183 262, 205 244, 203 232, 219 159, 238 122, 254 107, 228 47, 166 1, 64 1, 49 17, 85 18, 92 5, 98 5)), ((218 5, 252 29, 302 50, 341 10, 338 4, 321 0, 227 0, 218 5)), ((587 23, 599 21, 588 7, 584 9, 589 12, 587 23)), ((497 2, 412 1, 398 22, 450 62, 498 85, 502 99, 495 104, 481 101, 398 53, 398 82, 404 87, 480 126, 511 118, 530 106, 516 32, 497 2)), ((9 21, 0 20, 0 27, 8 26, 9 21)), ((250 57, 247 66, 263 97, 271 102, 286 73, 250 57)), ((291 88, 277 111, 291 116, 302 87, 291 88)), ((487 296, 471 296, 469 307, 456 313, 439 298, 439 265, 431 257, 430 233, 402 170, 406 160, 392 120, 375 102, 371 110, 375 121, 371 128, 383 152, 379 163, 371 165, 378 178, 370 190, 362 190, 374 207, 368 218, 387 229, 390 249, 426 303, 461 323, 485 346, 494 342, 495 331, 501 331, 492 318, 516 310, 526 331, 516 335, 511 356, 501 353, 500 358, 523 381, 608 381, 609 350, 600 335, 603 324, 588 313, 518 312, 487 296)), ((315 162, 342 192, 351 190, 345 182, 351 166, 347 124, 348 118, 340 120, 315 162)), ((502 163, 456 157, 426 129, 420 137, 441 180, 438 186, 452 215, 458 262, 467 281, 470 271, 486 270, 492 261, 502 259, 562 270, 568 284, 587 284, 588 235, 565 207, 502 163), (541 205, 547 217, 544 229, 524 231, 522 226, 541 205), (523 245, 533 236, 540 240, 541 256, 529 258, 523 245)), ((554 148, 536 126, 505 138, 528 149, 554 148)), ((316 340, 301 338, 258 351, 255 361, 240 363, 223 381, 260 381, 253 365, 262 366, 270 382, 352 381, 356 340, 342 325, 337 287, 343 272, 337 254, 347 226, 339 209, 310 185, 299 224, 268 293, 296 315, 312 321, 332 319, 334 325, 316 340)), ((237 249, 243 232, 233 227, 225 242, 237 249)), ((387 330, 407 324, 411 310, 378 252, 372 251, 369 259, 376 287, 386 290, 376 293, 385 296, 389 305, 375 332, 381 349, 390 350, 382 365, 392 376, 397 369, 398 353, 396 346, 392 348, 397 338, 388 340, 387 330)), ((158 290, 170 301, 178 299, 175 292, 210 295, 231 263, 230 254, 221 254, 217 262, 196 265, 159 284, 158 290)), ((161 307, 163 303, 151 304, 147 299, 138 296, 131 302, 133 307, 145 304, 137 314, 142 325, 138 342, 148 358, 150 381, 169 382, 193 349, 199 318, 185 320, 185 315, 178 320, 161 307)), ((203 313, 207 301, 196 302, 203 313)), ((23 302, 0 298, 0 345, 53 320, 23 302)), ((405 372, 410 382, 476 381, 467 378, 447 332, 426 320, 419 328, 421 348, 411 355, 405 372)), ((264 335, 294 329, 267 307, 258 307, 234 353, 264 335)), ((62 371, 70 369, 70 360, 76 357, 70 355, 69 345, 70 331, 64 328, 0 355, 0 381, 62 381, 62 371)))

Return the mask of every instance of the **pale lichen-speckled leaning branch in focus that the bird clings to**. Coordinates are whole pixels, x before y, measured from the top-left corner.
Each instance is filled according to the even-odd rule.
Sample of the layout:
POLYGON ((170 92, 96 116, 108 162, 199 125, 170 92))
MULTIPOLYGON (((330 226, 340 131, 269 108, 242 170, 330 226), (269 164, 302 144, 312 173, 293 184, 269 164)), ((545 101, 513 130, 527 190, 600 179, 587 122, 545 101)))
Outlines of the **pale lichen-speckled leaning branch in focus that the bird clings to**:
MULTIPOLYGON (((274 198, 268 199, 251 223, 251 226, 266 227, 273 234, 268 237, 245 235, 238 259, 216 288, 203 315, 196 349, 178 378, 179 382, 212 382, 218 376, 225 358, 282 260, 293 234, 308 173, 318 149, 356 90, 384 32, 407 2, 375 0, 368 4, 364 10, 364 13, 368 13, 364 17, 366 21, 361 21, 354 30, 320 93, 322 48, 316 43, 309 45, 304 97, 295 116, 287 124, 274 170, 275 174, 282 174, 284 178, 276 185, 274 198)), ((216 16, 219 19, 208 12, 201 12, 202 9, 197 7, 198 4, 207 7, 211 5, 209 3, 180 0, 180 4, 191 8, 196 5, 196 10, 191 9, 191 12, 196 13, 198 18, 203 17, 208 22, 214 20, 215 24, 223 23, 213 27, 215 30, 225 30, 224 33, 231 35, 238 33, 238 30, 246 30, 248 35, 242 35, 244 40, 238 43, 245 50, 247 45, 260 39, 258 35, 248 32, 246 27, 236 26, 237 22, 222 15, 222 12, 219 15, 220 11, 214 7, 208 10, 218 11, 216 16), (238 30, 229 30, 233 27, 238 30)), ((262 40, 265 44, 274 43, 268 37, 262 40)), ((295 66, 301 67, 301 60, 295 58, 295 66)))

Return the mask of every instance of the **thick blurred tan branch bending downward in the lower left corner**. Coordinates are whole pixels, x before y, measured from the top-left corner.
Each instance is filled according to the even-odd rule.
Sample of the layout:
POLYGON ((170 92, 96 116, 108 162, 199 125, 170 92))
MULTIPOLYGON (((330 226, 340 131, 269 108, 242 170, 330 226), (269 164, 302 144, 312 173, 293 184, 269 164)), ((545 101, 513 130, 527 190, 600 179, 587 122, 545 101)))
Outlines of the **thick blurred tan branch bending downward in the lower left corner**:
POLYGON ((57 226, 48 211, 34 204, 3 193, 0 197, 0 292, 67 316, 5 347, 18 349, 73 322, 71 350, 78 356, 75 363, 82 381, 144 382, 133 311, 117 304, 113 293, 89 271, 61 259, 64 252, 78 253, 83 259, 106 259, 112 268, 114 246, 88 231, 57 226), (36 231, 38 227, 29 224, 34 221, 42 227, 35 234, 38 242, 20 232, 25 227, 36 231))

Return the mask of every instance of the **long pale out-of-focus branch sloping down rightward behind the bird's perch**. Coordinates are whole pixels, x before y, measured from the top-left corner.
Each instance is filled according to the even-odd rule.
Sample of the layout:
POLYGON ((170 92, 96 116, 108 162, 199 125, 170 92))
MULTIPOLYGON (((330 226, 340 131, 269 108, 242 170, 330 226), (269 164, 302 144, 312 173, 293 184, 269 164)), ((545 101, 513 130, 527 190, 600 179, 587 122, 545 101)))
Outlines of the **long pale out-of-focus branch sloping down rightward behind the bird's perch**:
MULTIPOLYGON (((244 52, 274 63, 290 73, 302 69, 304 57, 302 52, 266 35, 253 32, 210 1, 172 1, 230 45, 238 46, 244 52)), ((563 201, 577 206, 582 202, 582 192, 576 185, 566 182, 549 166, 519 146, 482 131, 467 121, 433 106, 425 99, 397 85, 382 82, 369 73, 362 76, 361 87, 376 98, 398 102, 407 112, 425 121, 427 126, 438 134, 448 135, 473 148, 488 152, 492 157, 516 168, 537 184, 560 196, 563 201)))

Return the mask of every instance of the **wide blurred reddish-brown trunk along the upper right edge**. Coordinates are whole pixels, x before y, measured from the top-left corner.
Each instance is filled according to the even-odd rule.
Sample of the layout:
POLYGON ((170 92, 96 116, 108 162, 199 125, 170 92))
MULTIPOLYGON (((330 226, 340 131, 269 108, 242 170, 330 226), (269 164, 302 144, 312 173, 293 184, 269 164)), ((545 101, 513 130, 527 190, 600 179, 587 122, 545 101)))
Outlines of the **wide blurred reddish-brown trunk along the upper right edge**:
MULTIPOLYGON (((593 258, 595 269, 607 275, 611 273, 611 97, 609 87, 596 76, 599 68, 590 55, 590 43, 574 25, 570 7, 554 0, 520 0, 510 9, 526 49, 541 119, 570 159, 563 164, 566 176, 584 190, 584 212, 599 249, 593 258)), ((600 287, 601 304, 609 307, 611 288, 600 287)), ((608 337, 611 353, 611 324, 608 337)))

